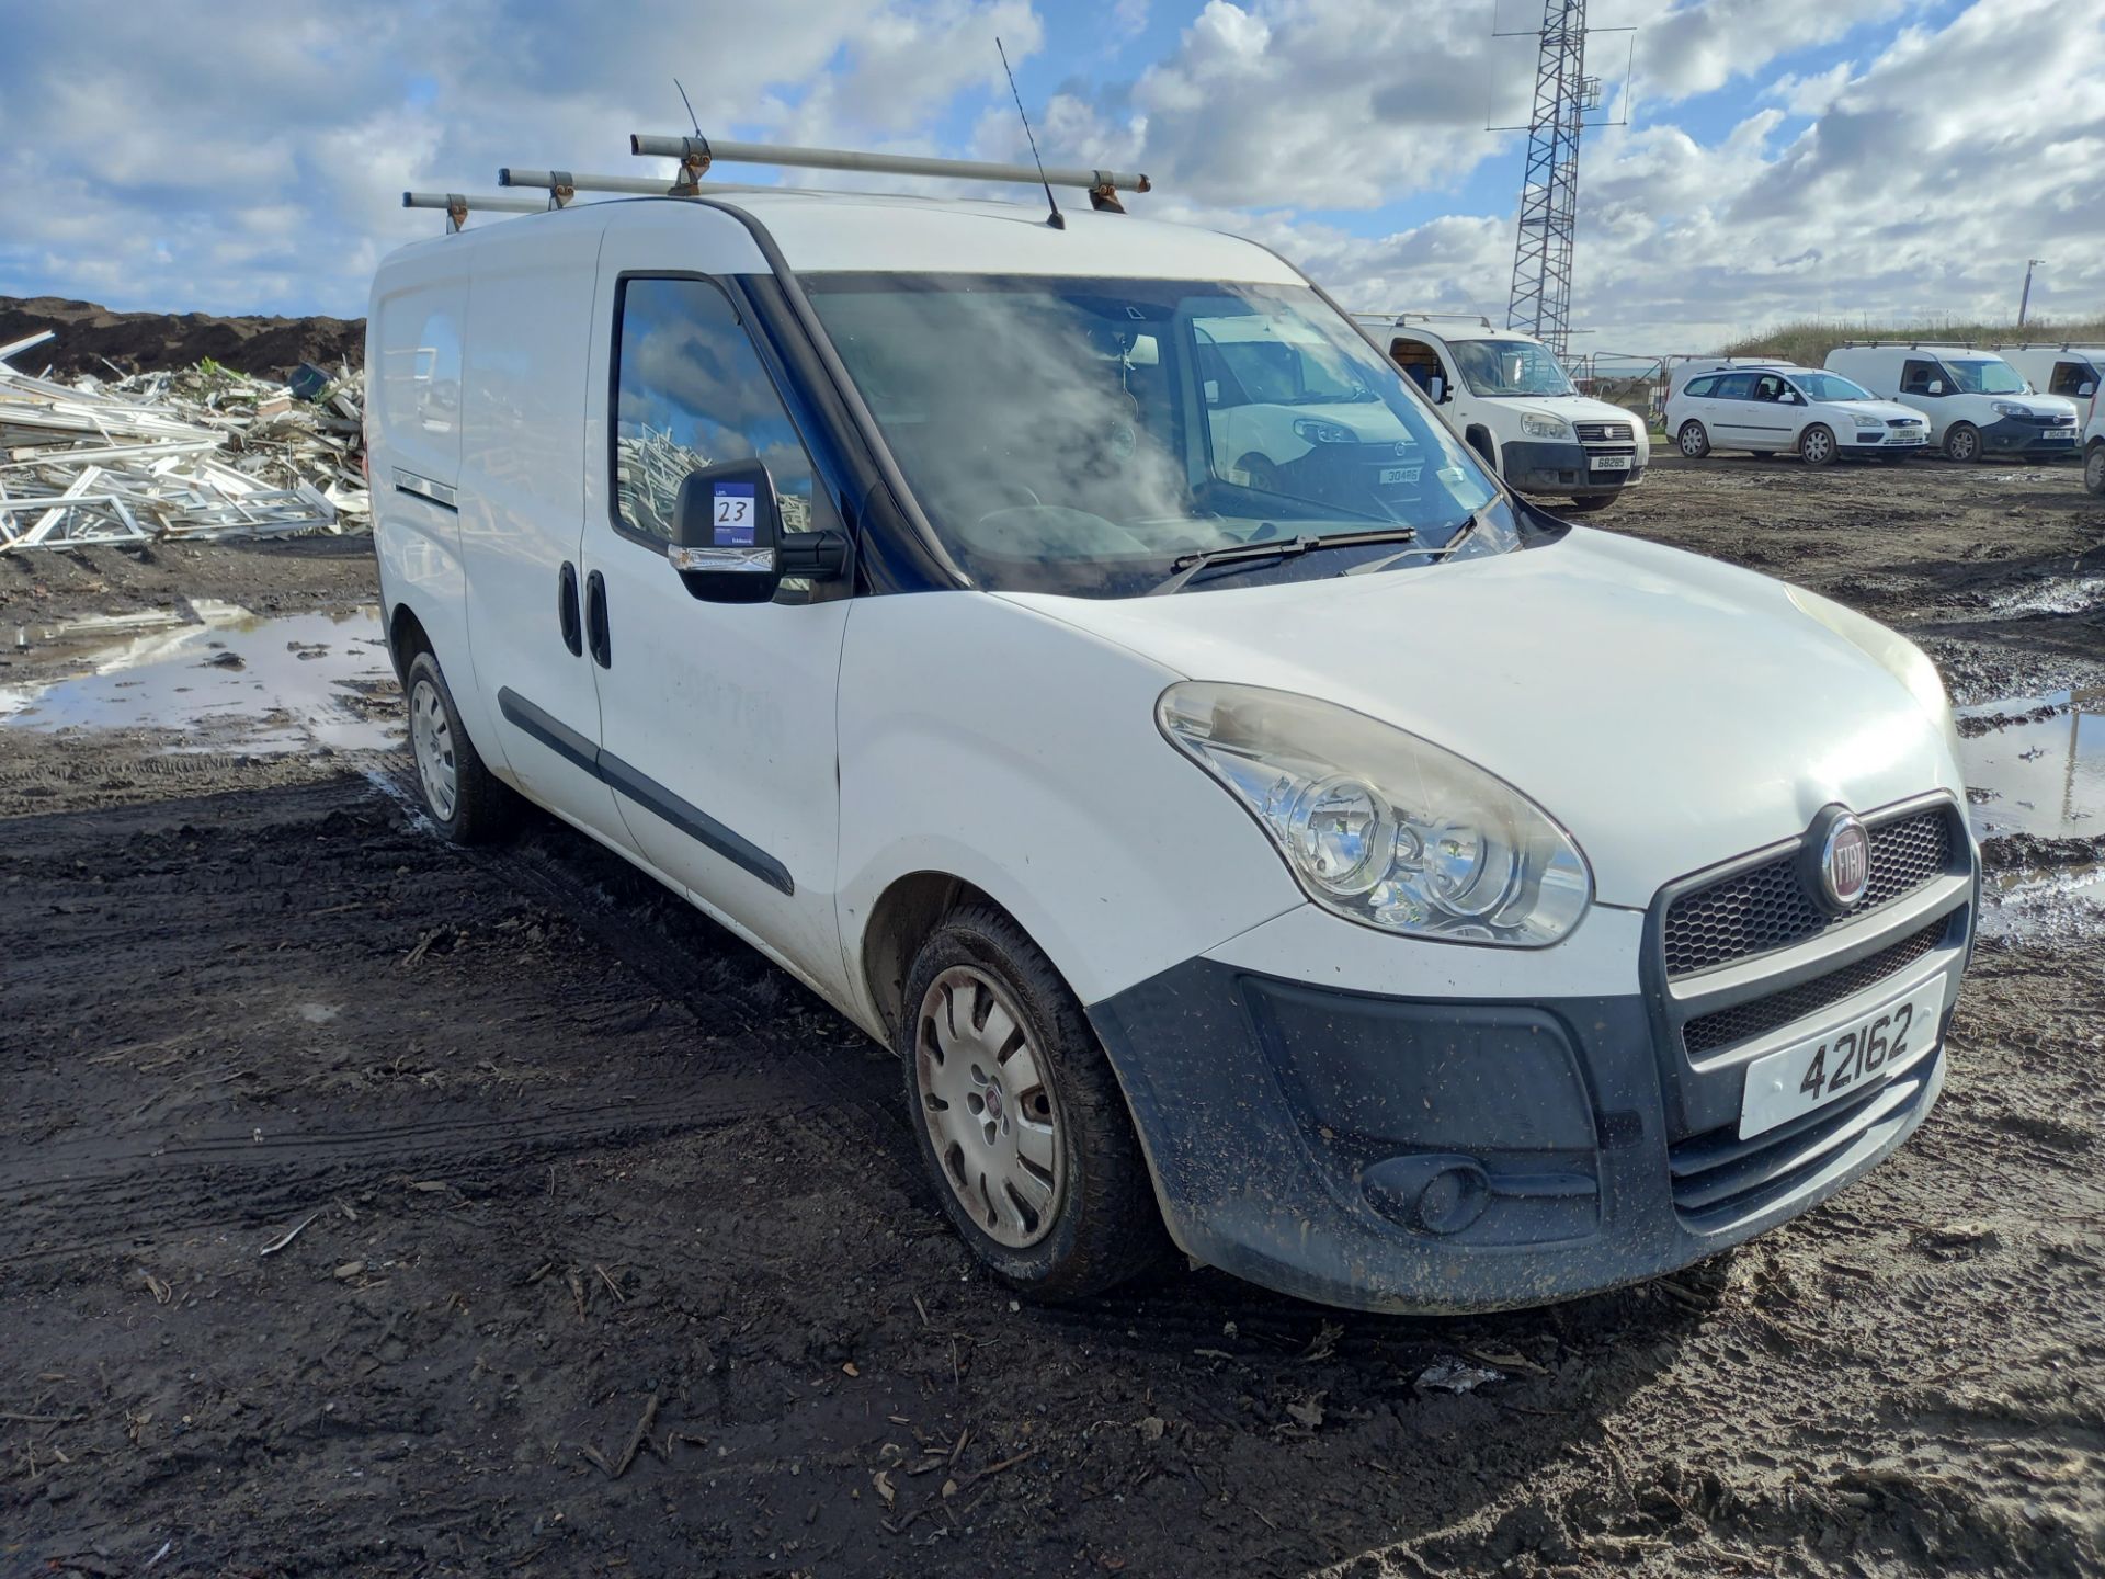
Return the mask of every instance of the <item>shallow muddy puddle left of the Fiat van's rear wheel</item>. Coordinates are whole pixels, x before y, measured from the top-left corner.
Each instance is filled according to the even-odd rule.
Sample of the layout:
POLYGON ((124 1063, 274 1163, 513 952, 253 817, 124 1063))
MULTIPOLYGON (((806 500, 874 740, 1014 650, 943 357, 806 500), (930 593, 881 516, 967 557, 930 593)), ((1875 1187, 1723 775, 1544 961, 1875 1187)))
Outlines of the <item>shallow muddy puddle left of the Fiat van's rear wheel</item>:
POLYGON ((379 752, 402 743, 379 608, 74 621, 17 644, 80 646, 76 674, 0 686, 0 728, 171 731, 175 752, 379 752), (131 632, 112 640, 116 632, 131 632))

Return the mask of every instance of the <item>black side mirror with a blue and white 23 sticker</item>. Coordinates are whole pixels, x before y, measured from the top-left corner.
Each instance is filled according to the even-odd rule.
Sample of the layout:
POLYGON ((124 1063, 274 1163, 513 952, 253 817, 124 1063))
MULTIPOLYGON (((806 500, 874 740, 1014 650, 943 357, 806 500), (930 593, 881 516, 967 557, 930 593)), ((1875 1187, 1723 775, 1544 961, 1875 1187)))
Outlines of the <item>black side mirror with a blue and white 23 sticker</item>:
POLYGON ((768 467, 718 461, 680 480, 665 558, 703 602, 768 602, 785 577, 846 575, 848 539, 836 531, 785 533, 768 467))

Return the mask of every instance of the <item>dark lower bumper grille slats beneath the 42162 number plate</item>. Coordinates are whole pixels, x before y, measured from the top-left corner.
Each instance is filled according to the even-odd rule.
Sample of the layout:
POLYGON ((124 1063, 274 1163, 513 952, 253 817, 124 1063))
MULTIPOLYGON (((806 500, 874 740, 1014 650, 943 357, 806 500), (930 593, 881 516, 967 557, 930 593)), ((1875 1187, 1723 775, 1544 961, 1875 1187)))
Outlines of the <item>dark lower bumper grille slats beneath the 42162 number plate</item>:
POLYGON ((1787 1200, 1873 1124, 1907 1122, 1943 1057, 1939 1046, 1861 1097, 1819 1107, 1745 1141, 1739 1139, 1739 1124, 1726 1124, 1667 1147, 1676 1213, 1688 1227, 1709 1232, 1787 1200))

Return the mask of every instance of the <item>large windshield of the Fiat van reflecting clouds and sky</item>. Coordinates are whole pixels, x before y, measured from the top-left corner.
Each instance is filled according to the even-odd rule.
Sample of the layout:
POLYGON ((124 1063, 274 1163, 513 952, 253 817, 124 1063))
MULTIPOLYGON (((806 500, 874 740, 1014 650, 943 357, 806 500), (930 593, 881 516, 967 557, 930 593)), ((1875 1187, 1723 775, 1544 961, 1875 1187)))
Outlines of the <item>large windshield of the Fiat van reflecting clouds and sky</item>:
POLYGON ((1511 505, 1402 375, 1305 286, 806 274, 907 486, 983 587, 1122 598, 1398 571, 1520 543, 1511 505), (1394 528, 1417 533, 1398 554, 1394 528), (1467 533, 1465 533, 1467 528, 1467 533), (1465 535, 1463 535, 1465 533, 1465 535))

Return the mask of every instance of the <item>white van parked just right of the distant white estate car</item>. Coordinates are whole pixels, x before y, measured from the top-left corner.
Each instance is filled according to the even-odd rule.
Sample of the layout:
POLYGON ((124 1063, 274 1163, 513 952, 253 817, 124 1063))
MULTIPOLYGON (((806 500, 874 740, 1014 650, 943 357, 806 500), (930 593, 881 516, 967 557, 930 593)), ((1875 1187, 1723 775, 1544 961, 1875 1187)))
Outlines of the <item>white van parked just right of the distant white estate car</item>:
POLYGON ((1930 442, 1951 461, 2052 461, 2076 453, 2076 406, 2033 394, 2025 375, 1993 352, 1840 345, 1827 354, 1827 371, 1920 411, 1930 419, 1930 442))

